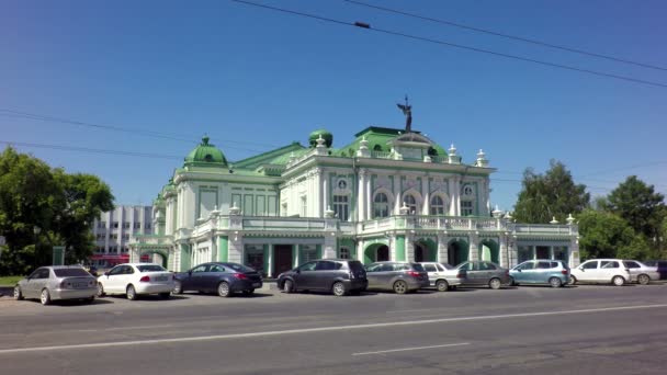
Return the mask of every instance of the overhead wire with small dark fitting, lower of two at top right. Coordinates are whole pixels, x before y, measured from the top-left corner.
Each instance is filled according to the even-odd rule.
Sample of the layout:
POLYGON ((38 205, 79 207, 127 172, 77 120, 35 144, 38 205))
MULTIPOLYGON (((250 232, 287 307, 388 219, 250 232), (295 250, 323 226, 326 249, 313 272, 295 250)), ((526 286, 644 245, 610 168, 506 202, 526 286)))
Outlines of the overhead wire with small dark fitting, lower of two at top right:
POLYGON ((578 71, 578 72, 589 73, 589 75, 593 75, 593 76, 598 76, 598 77, 613 78, 613 79, 617 79, 617 80, 623 80, 623 81, 629 81, 629 82, 634 82, 634 83, 642 83, 642 84, 655 86, 655 87, 660 87, 660 88, 667 88, 667 84, 659 83, 659 82, 646 81, 646 80, 636 79, 636 78, 632 78, 632 77, 625 77, 625 76, 618 76, 618 75, 607 73, 607 72, 597 71, 597 70, 577 68, 577 67, 573 67, 573 66, 568 66, 568 65, 563 65, 563 64, 556 64, 556 63, 536 60, 536 59, 532 59, 532 58, 528 58, 528 57, 521 57, 521 56, 517 56, 517 55, 498 53, 498 52, 494 52, 494 50, 489 50, 489 49, 484 49, 484 48, 471 47, 471 46, 466 46, 466 45, 462 45, 462 44, 455 44, 455 43, 450 43, 450 42, 445 42, 445 41, 433 39, 433 38, 429 38, 429 37, 425 37, 425 36, 419 36, 419 35, 406 34, 406 33, 396 32, 396 31, 386 30, 386 29, 371 27, 370 24, 363 23, 363 22, 351 23, 351 22, 335 20, 335 19, 325 18, 325 16, 320 16, 320 15, 315 15, 315 14, 293 11, 293 10, 289 10, 289 9, 265 5, 265 4, 256 3, 256 2, 251 2, 251 1, 245 1, 245 0, 230 0, 230 1, 239 2, 239 3, 252 5, 252 7, 258 7, 258 8, 264 8, 264 9, 273 10, 273 11, 276 11, 276 12, 289 13, 289 14, 294 14, 294 15, 309 18, 309 19, 315 19, 315 20, 319 20, 319 21, 324 21, 324 22, 330 22, 330 23, 336 23, 336 24, 346 25, 346 26, 366 29, 366 30, 374 31, 374 32, 377 32, 377 33, 383 33, 383 34, 387 34, 387 35, 400 36, 400 37, 404 37, 404 38, 409 38, 409 39, 415 39, 415 41, 420 41, 420 42, 427 42, 427 43, 432 43, 432 44, 438 44, 438 45, 441 45, 441 46, 448 46, 448 47, 454 47, 454 48, 460 48, 460 49, 473 50, 473 52, 476 52, 476 53, 482 53, 482 54, 487 54, 487 55, 494 55, 494 56, 499 56, 499 57, 505 57, 505 58, 515 59, 515 60, 521 60, 521 61, 527 61, 527 63, 533 63, 533 64, 543 65, 543 66, 547 66, 547 67, 552 67, 552 68, 565 69, 565 70, 570 70, 570 71, 578 71))

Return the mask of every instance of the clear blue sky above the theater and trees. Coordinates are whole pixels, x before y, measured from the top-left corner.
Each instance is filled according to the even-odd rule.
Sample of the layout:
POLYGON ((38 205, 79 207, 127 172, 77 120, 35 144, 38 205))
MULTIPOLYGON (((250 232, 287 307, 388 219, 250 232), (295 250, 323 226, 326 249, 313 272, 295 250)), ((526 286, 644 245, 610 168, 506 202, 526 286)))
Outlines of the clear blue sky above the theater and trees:
MULTIPOLYGON (((257 0, 258 2, 260 0, 257 0)), ((341 0, 264 4, 667 84, 645 69, 341 0)), ((432 18, 667 67, 665 1, 378 1, 432 18)), ((483 148, 491 200, 509 209, 527 167, 563 161, 592 195, 629 174, 667 192, 667 88, 561 70, 324 23, 230 1, 1 1, 0 109, 136 129, 45 122, 0 111, 0 140, 173 156, 16 146, 100 175, 117 204, 149 204, 208 134, 230 160, 307 141, 335 147, 369 125, 412 128, 464 162, 483 148), (142 132, 171 134, 177 139, 142 132), (509 180, 509 181, 508 181, 509 180)), ((0 144, 0 149, 4 148, 0 144)))

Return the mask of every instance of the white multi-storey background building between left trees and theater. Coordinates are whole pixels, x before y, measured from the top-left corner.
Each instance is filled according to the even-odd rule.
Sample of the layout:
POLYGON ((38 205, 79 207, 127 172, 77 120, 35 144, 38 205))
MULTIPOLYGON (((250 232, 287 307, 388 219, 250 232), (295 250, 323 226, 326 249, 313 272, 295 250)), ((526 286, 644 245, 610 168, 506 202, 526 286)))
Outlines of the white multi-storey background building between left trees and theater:
MULTIPOLYGON (((95 266, 111 266, 129 261, 129 243, 138 235, 152 235, 152 206, 116 206, 95 219, 92 228, 95 250, 90 261, 95 266)), ((149 261, 149 255, 142 258, 149 261)))

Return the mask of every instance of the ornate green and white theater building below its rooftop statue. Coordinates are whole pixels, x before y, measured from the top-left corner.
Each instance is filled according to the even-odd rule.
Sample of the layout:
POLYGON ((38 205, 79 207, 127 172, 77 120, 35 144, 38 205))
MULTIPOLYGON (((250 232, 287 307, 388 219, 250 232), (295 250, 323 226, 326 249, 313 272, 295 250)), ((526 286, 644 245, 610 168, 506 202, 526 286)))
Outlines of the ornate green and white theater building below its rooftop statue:
POLYGON ((154 254, 169 270, 239 262, 276 276, 318 258, 374 261, 528 259, 579 263, 573 220, 518 224, 491 213, 481 150, 462 162, 418 132, 368 127, 332 148, 327 130, 230 163, 204 137, 154 202, 155 234, 137 237, 131 261, 154 254))

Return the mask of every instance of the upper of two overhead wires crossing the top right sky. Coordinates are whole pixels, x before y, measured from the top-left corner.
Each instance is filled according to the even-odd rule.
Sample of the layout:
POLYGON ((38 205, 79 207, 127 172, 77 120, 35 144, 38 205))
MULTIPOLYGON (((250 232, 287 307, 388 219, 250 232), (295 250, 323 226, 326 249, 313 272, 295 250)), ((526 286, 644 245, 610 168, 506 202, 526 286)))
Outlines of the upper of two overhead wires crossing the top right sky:
POLYGON ((667 70, 667 68, 658 67, 658 66, 655 66, 655 65, 648 65, 648 64, 644 64, 644 63, 637 63, 637 61, 628 60, 628 59, 624 59, 624 58, 619 58, 619 57, 597 54, 597 53, 592 53, 592 52, 588 52, 588 50, 584 50, 584 49, 578 49, 578 48, 565 47, 565 46, 552 44, 552 43, 541 42, 541 41, 538 41, 538 39, 531 39, 531 38, 523 37, 523 36, 516 36, 516 35, 504 34, 504 33, 491 31, 491 30, 481 29, 481 27, 475 27, 475 26, 468 26, 468 25, 464 25, 464 24, 461 24, 461 23, 456 23, 456 22, 452 22, 452 21, 446 21, 446 20, 442 20, 442 19, 434 19, 434 18, 430 18, 430 16, 426 16, 426 15, 420 15, 420 14, 415 14, 415 13, 408 13, 408 12, 405 12, 405 11, 402 11, 402 10, 397 10, 397 9, 391 9, 391 8, 380 7, 380 5, 373 5, 373 4, 369 4, 369 3, 361 2, 361 1, 355 1, 355 0, 343 0, 343 1, 357 4, 357 5, 361 5, 361 7, 377 9, 377 10, 389 12, 389 13, 402 14, 402 15, 414 18, 414 19, 420 19, 420 20, 436 22, 436 23, 440 23, 440 24, 445 24, 445 25, 454 26, 454 27, 459 27, 459 29, 465 29, 465 30, 471 30, 471 31, 474 31, 474 32, 489 34, 489 35, 494 35, 494 36, 500 36, 500 37, 505 37, 505 38, 508 38, 508 39, 515 39, 515 41, 520 41, 520 42, 524 42, 524 43, 530 43, 530 44, 534 44, 534 45, 539 45, 539 46, 543 46, 543 47, 547 47, 547 48, 566 50, 566 52, 574 53, 574 54, 579 54, 579 55, 585 55, 585 56, 590 56, 590 57, 596 57, 596 58, 602 58, 602 59, 607 59, 607 60, 612 60, 612 61, 617 61, 617 63, 623 63, 623 64, 634 65, 634 66, 638 66, 638 67, 643 67, 643 68, 648 68, 648 69, 667 70))

